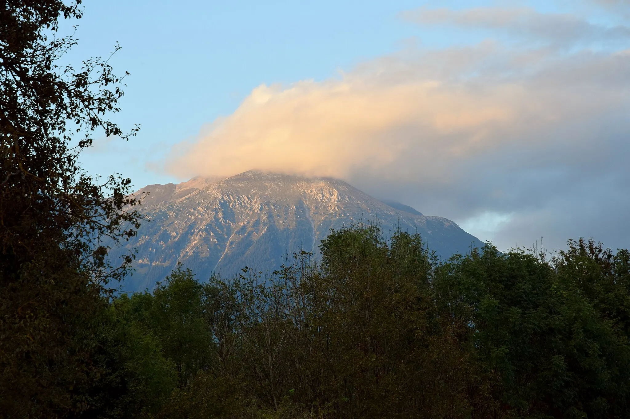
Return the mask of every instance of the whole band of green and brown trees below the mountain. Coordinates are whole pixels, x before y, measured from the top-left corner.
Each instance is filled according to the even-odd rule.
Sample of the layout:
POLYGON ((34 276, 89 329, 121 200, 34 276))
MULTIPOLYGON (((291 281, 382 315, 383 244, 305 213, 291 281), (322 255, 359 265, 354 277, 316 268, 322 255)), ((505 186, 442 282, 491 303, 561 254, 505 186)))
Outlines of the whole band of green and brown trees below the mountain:
POLYGON ((332 231, 321 249, 319 264, 299 253, 271 275, 245 268, 229 281, 202 283, 180 266, 152 294, 118 298, 115 317, 137 331, 125 344, 136 369, 123 368, 135 383, 135 411, 630 414, 627 251, 578 241, 545 261, 488 244, 437 263, 419 236, 396 232, 386 241, 369 224, 332 231))

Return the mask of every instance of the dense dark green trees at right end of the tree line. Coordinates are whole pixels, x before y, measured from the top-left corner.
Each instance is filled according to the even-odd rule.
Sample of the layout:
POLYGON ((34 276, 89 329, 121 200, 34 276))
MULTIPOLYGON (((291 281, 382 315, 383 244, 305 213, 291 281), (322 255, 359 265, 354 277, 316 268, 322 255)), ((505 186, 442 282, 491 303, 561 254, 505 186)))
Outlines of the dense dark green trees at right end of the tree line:
POLYGON ((469 325, 471 354, 501 411, 517 417, 626 417, 630 346, 610 313, 627 295, 626 251, 606 261, 571 244, 553 263, 522 251, 483 252, 437 269, 444 307, 469 325), (608 272, 602 269, 609 266, 608 272), (611 278, 613 266, 621 278, 611 278), (599 290, 599 291, 595 291, 599 290), (602 310, 604 308, 604 310, 602 310))

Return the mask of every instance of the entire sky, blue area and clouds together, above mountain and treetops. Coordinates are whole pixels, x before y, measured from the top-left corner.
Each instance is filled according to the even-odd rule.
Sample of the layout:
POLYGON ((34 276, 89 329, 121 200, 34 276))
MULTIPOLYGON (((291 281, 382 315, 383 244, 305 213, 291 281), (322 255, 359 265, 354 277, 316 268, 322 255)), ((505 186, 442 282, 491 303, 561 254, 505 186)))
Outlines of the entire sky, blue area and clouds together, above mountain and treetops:
POLYGON ((91 173, 336 177, 499 249, 630 247, 630 0, 84 6, 66 60, 119 42, 141 126, 91 173))

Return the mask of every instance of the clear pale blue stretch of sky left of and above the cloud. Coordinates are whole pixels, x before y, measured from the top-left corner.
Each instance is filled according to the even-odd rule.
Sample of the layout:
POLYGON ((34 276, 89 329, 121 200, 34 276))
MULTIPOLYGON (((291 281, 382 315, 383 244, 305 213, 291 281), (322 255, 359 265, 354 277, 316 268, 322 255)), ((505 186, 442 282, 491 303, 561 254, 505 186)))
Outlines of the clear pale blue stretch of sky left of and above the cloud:
MULTIPOLYGON (((183 177, 150 170, 146 163, 197 135, 203 124, 234 112, 260 84, 337 77, 358 63, 413 45, 439 48, 483 40, 483 33, 418 28, 399 16, 423 4, 427 2, 85 1, 83 18, 74 22, 79 45, 70 59, 106 56, 119 42, 122 50, 112 63, 131 76, 122 112, 114 119, 142 129, 129 144, 112 140, 88 153, 83 165, 102 175, 125 173, 137 187, 181 182, 183 177), (110 155, 119 160, 112 162, 110 155)), ((437 6, 445 4, 465 8, 473 3, 437 6)), ((483 4, 491 2, 474 3, 483 4)))

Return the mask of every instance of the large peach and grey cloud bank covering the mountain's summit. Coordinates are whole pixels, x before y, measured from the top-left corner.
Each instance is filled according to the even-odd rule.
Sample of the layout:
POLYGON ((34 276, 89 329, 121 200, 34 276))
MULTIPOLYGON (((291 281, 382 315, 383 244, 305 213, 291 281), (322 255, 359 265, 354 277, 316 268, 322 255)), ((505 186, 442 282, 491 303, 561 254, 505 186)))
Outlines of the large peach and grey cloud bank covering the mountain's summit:
POLYGON ((630 27, 527 8, 401 18, 492 36, 261 85, 180 144, 169 171, 343 178, 500 248, 541 236, 551 247, 579 236, 630 246, 630 27))

